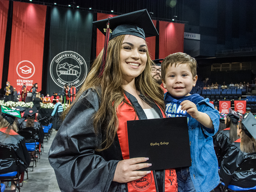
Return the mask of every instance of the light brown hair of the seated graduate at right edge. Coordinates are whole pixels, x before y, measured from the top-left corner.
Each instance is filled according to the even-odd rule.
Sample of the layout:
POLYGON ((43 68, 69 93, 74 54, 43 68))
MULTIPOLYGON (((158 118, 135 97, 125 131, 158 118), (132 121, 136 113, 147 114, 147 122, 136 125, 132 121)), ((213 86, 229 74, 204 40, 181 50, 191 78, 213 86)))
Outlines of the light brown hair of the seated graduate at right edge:
POLYGON ((240 142, 240 149, 241 151, 245 152, 245 153, 255 153, 256 152, 256 140, 252 137, 249 137, 245 132, 244 129, 242 127, 242 121, 240 121, 239 123, 239 129, 242 129, 242 131, 240 132, 240 136, 241 136, 241 142, 240 142))

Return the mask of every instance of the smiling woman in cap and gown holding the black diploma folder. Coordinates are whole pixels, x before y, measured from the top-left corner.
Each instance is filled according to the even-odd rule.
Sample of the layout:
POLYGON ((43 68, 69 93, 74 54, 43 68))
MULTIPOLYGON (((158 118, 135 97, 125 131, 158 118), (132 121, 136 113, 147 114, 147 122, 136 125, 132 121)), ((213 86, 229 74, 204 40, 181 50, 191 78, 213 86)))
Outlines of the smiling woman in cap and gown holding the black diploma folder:
POLYGON ((151 76, 145 41, 158 35, 156 28, 147 10, 94 24, 103 34, 104 28, 107 31, 108 46, 63 112, 65 119, 49 151, 60 190, 176 191, 175 170, 140 171, 151 166, 148 158, 129 159, 126 121, 147 119, 145 111, 165 117, 164 93, 151 76))

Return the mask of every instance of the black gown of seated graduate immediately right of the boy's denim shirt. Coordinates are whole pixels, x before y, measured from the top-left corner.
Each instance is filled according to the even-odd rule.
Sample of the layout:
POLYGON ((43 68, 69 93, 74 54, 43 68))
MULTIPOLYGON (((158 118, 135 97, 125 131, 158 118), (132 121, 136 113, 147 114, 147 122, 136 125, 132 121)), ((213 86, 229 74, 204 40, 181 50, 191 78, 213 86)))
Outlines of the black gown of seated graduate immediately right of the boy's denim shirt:
POLYGON ((216 137, 216 139, 213 141, 213 145, 217 145, 221 148, 221 157, 218 158, 218 164, 220 166, 223 157, 226 155, 228 151, 228 147, 231 144, 231 141, 229 139, 229 132, 230 130, 222 130, 216 137))

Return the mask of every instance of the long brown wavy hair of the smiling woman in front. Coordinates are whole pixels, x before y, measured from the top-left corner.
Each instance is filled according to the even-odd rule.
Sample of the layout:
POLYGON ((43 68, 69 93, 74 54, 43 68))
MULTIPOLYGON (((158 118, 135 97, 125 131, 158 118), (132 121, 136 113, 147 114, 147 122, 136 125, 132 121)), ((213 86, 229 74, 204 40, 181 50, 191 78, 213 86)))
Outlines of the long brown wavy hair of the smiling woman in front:
MULTIPOLYGON (((103 56, 102 50, 99 56, 94 60, 90 73, 77 93, 77 98, 79 98, 84 91, 92 88, 96 90, 100 97, 101 103, 99 110, 94 115, 93 126, 96 134, 99 133, 100 130, 103 131, 104 137, 102 144, 104 144, 104 146, 101 146, 102 149, 95 149, 96 151, 103 151, 109 148, 113 143, 119 126, 116 109, 122 102, 127 103, 124 99, 124 89, 122 87, 123 73, 120 64, 120 50, 124 36, 125 35, 120 35, 109 41, 103 75, 100 78, 97 77, 103 56), (101 92, 97 91, 98 88, 101 89, 101 92)), ((164 92, 151 76, 151 64, 152 60, 150 59, 147 49, 146 67, 144 71, 135 78, 135 87, 141 94, 147 95, 164 110, 164 92)), ((152 102, 150 99, 147 101, 152 102)), ((72 102, 71 106, 63 112, 63 118, 65 118, 76 102, 77 100, 72 102)))

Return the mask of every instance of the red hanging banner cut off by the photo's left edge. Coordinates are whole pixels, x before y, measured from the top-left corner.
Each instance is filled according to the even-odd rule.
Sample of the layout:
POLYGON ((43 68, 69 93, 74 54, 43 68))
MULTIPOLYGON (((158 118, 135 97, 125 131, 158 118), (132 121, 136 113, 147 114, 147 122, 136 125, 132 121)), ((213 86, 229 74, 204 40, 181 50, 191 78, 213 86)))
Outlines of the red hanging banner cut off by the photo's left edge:
POLYGON ((9 1, 0 0, 0 89, 2 85, 2 74, 3 62, 4 62, 4 45, 5 45, 5 35, 7 27, 7 18, 8 18, 8 8, 9 1))

